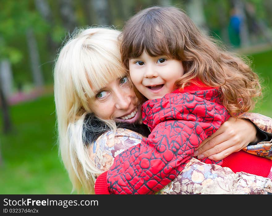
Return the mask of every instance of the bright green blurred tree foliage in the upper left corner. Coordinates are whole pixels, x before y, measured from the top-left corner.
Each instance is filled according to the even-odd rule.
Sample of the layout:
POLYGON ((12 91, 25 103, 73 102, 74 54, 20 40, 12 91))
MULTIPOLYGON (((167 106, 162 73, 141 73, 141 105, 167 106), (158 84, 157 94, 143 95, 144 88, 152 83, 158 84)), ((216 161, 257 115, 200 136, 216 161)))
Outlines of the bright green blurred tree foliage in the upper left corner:
MULTIPOLYGON (((45 35, 49 24, 45 22, 33 7, 34 1, 2 1, 0 13, 0 59, 8 58, 12 64, 16 83, 32 83, 31 68, 28 64, 26 32, 32 28, 34 34, 45 35)), ((43 53, 47 54, 47 49, 43 53)), ((50 80, 52 83, 52 80, 50 80)))

